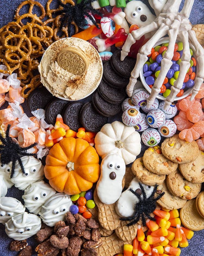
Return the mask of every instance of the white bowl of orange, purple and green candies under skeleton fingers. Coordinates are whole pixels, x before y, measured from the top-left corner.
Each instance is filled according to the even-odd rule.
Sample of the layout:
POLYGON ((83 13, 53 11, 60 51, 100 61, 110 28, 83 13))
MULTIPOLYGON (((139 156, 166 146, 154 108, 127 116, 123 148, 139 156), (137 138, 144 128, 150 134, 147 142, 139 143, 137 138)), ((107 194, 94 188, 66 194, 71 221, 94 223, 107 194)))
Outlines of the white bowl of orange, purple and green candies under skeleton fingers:
MULTIPOLYGON (((140 71, 140 79, 144 88, 151 93, 151 88, 154 85, 155 79, 158 77, 161 69, 161 61, 163 55, 167 50, 169 43, 169 37, 161 38, 155 45, 154 50, 152 50, 151 55, 148 55, 148 61, 144 64, 143 69, 140 71)), ((184 79, 183 87, 177 94, 175 100, 181 100, 189 96, 192 92, 192 87, 194 86, 194 79, 196 77, 196 59, 193 57, 193 52, 195 48, 191 43, 189 43, 191 60, 190 68, 184 79)), ((172 66, 166 74, 166 78, 161 87, 161 92, 157 95, 157 99, 165 100, 171 92, 171 87, 174 86, 174 82, 178 78, 180 70, 181 56, 183 54, 183 43, 178 39, 174 48, 174 57, 172 59, 172 66)))

